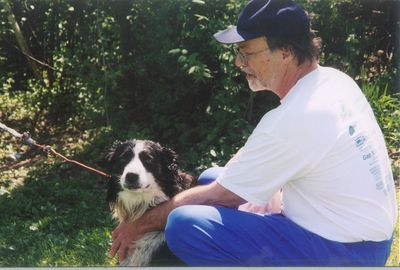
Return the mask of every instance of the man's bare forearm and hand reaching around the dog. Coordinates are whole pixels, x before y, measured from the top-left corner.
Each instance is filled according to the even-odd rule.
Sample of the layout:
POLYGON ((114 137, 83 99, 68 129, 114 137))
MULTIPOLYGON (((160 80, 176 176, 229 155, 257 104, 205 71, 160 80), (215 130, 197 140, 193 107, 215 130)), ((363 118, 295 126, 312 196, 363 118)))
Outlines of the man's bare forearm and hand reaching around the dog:
POLYGON ((133 223, 122 222, 112 232, 113 244, 110 256, 118 252, 120 261, 126 256, 127 249, 143 234, 151 231, 162 231, 172 210, 183 205, 220 205, 238 207, 245 201, 235 193, 227 190, 217 182, 209 185, 196 186, 185 190, 171 200, 147 211, 140 219, 133 223))

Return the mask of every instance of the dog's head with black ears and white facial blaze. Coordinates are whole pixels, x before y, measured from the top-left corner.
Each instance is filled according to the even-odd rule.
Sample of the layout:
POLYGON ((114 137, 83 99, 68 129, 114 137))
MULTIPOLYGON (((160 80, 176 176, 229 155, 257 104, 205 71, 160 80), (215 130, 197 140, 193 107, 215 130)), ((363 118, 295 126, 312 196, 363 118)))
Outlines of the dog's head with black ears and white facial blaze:
POLYGON ((177 155, 169 148, 149 140, 116 142, 105 157, 108 171, 113 175, 108 201, 117 199, 120 191, 159 193, 171 198, 190 186, 182 177, 177 155))

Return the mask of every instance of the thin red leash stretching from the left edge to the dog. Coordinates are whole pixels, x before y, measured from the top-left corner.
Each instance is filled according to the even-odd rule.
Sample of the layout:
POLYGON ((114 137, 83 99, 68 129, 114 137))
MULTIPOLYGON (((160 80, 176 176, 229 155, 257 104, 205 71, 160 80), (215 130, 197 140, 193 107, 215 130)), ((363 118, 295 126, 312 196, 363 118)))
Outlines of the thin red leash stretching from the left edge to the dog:
POLYGON ((88 170, 88 171, 93 172, 93 173, 100 174, 101 176, 112 177, 112 176, 111 176, 110 174, 108 174, 108 173, 105 173, 105 172, 102 172, 102 171, 100 171, 100 170, 94 169, 94 168, 92 168, 92 167, 89 167, 89 166, 87 166, 87 165, 81 163, 81 162, 78 162, 78 161, 76 161, 76 160, 69 159, 69 158, 65 157, 64 155, 61 155, 61 154, 58 153, 56 150, 54 150, 53 148, 51 148, 51 146, 42 145, 42 144, 36 143, 35 140, 33 140, 33 139, 30 137, 29 133, 27 133, 27 132, 25 132, 25 133, 23 133, 23 134, 20 134, 20 133, 18 133, 17 131, 15 131, 15 130, 9 128, 9 127, 7 127, 6 125, 4 125, 4 124, 2 124, 2 123, 0 123, 0 128, 6 130, 6 131, 8 131, 8 132, 10 132, 12 135, 14 135, 14 136, 16 136, 16 137, 18 137, 18 138, 20 138, 20 139, 22 140, 23 143, 28 144, 28 145, 33 145, 33 146, 35 146, 35 147, 37 147, 37 148, 40 148, 40 149, 44 150, 44 151, 47 152, 47 153, 51 152, 51 153, 53 153, 54 155, 56 155, 56 156, 62 158, 62 159, 63 159, 64 161, 66 161, 66 162, 73 163, 73 164, 75 164, 75 165, 80 166, 81 168, 84 168, 85 170, 88 170))

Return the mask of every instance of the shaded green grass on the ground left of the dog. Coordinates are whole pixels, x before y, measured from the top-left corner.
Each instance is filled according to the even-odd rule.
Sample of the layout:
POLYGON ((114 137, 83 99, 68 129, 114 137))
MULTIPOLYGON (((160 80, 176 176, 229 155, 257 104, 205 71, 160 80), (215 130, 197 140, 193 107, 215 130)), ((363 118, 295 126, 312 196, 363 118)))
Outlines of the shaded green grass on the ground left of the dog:
POLYGON ((0 196, 0 266, 115 265, 104 190, 85 172, 67 175, 38 168, 0 196))

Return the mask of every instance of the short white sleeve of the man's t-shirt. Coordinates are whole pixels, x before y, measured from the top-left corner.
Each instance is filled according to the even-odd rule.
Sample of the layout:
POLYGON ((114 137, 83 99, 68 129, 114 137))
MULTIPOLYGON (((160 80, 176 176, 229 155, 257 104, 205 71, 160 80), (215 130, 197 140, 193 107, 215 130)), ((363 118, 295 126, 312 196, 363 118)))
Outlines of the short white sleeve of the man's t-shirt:
POLYGON ((248 202, 265 204, 307 168, 304 157, 266 132, 253 132, 225 165, 217 182, 248 202))

